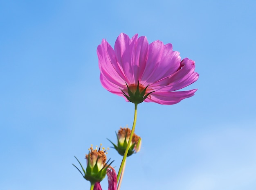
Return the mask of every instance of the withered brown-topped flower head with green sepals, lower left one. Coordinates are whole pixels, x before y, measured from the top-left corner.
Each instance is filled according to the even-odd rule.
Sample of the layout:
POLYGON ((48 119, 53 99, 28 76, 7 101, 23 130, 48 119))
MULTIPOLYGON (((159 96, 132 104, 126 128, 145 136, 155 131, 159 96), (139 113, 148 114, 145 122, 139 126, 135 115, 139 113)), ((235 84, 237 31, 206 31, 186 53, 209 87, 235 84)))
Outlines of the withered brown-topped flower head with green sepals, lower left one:
POLYGON ((85 155, 85 158, 87 160, 86 170, 84 170, 82 164, 75 157, 76 160, 79 162, 81 168, 83 169, 84 174, 74 164, 73 166, 75 166, 76 169, 79 170, 79 172, 83 175, 83 178, 90 181, 92 184, 95 184, 96 182, 100 182, 104 179, 110 164, 114 162, 112 161, 110 164, 108 164, 110 159, 108 160, 108 162, 106 162, 106 154, 106 150, 104 148, 102 148, 101 150, 101 146, 99 147, 99 149, 97 146, 96 149, 93 149, 93 147, 91 146, 89 149, 89 153, 85 155))

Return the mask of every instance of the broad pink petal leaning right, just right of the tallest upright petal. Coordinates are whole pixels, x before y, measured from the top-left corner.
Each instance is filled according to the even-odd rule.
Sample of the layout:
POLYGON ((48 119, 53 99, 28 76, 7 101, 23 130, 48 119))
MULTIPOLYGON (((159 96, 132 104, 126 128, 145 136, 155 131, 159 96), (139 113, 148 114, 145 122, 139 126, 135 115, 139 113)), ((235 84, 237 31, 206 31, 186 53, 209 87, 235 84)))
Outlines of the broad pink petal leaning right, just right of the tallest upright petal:
POLYGON ((148 61, 141 77, 141 83, 148 85, 170 76, 180 67, 180 52, 173 52, 172 44, 164 45, 162 41, 149 44, 148 61))

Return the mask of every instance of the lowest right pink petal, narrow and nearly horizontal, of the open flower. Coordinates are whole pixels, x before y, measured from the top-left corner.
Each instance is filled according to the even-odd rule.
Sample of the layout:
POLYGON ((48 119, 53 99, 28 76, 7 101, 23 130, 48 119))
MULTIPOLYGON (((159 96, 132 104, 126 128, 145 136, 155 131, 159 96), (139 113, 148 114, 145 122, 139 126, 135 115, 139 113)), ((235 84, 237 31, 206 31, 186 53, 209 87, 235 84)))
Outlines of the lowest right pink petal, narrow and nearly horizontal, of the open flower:
POLYGON ((185 98, 193 96, 195 91, 197 91, 197 89, 180 92, 153 92, 145 101, 163 105, 173 105, 185 98))

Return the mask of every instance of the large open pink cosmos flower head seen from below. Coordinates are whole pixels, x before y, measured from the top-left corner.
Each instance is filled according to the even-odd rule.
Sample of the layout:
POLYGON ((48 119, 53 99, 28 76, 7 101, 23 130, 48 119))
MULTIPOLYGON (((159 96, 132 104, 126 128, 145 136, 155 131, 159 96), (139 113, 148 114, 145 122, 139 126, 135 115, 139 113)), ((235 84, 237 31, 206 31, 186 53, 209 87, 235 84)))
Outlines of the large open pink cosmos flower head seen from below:
POLYGON ((194 83, 199 74, 194 72, 195 61, 181 60, 172 44, 164 45, 159 40, 148 44, 145 36, 138 38, 136 34, 130 39, 121 33, 115 49, 103 39, 97 55, 103 87, 133 103, 172 105, 193 96, 197 90, 177 91, 194 83), (138 94, 141 100, 136 99, 138 94))

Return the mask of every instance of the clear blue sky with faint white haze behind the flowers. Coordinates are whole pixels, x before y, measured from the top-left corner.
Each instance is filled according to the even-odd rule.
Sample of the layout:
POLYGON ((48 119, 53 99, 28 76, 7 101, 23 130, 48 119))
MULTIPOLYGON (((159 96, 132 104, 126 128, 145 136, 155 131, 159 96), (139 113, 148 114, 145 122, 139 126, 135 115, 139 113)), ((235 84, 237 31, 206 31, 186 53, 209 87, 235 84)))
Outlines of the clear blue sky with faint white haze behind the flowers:
MULTIPOLYGON (((195 60, 195 96, 141 103, 122 190, 256 189, 254 0, 1 1, 0 190, 84 190, 72 166, 111 147, 134 105, 105 90, 96 49, 123 32, 195 60)), ((119 167, 121 156, 108 151, 119 167)), ((107 189, 107 180, 102 182, 107 189)))

